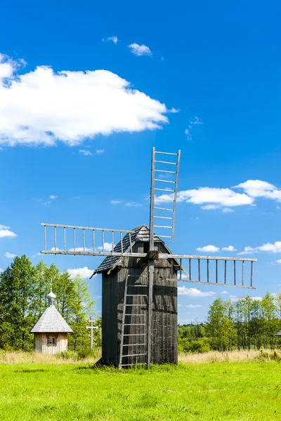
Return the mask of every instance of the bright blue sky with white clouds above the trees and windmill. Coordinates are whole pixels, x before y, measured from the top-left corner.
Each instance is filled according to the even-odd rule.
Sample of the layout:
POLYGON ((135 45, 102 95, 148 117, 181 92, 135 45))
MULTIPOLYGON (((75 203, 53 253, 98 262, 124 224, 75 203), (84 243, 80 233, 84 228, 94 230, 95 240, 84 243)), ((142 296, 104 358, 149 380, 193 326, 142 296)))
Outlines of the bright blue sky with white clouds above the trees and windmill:
MULTIPOLYGON (((258 258, 250 295, 276 293, 279 2, 15 1, 2 11, 0 267, 14 254, 38 262, 41 222, 148 224, 155 146, 182 151, 169 247, 204 254, 214 246, 214 255, 258 258), (228 246, 236 250, 222 250, 228 246)), ((42 259, 62 270, 95 269, 100 261, 42 259)), ((181 322, 204 320, 218 296, 244 293, 179 286, 181 322)), ((98 276, 91 290, 100 310, 98 276)))

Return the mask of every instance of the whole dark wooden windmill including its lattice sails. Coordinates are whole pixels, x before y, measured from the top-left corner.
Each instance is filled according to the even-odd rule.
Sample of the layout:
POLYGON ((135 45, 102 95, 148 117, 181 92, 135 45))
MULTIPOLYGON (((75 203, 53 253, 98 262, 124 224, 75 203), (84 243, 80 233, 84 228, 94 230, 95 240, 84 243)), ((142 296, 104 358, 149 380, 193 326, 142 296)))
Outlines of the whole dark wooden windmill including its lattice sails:
POLYGON ((178 281, 254 288, 253 262, 256 259, 174 254, 162 240, 174 241, 180 156, 181 151, 175 154, 156 152, 152 148, 150 227, 141 225, 125 231, 41 224, 45 244, 41 253, 105 256, 94 272, 103 274, 103 363, 120 368, 134 364, 146 364, 150 368, 152 361, 177 363, 178 281), (161 156, 168 158, 162 160, 161 156), (165 185, 169 187, 164 188, 165 185), (158 192, 161 192, 159 196, 158 192), (164 205, 160 206, 161 202, 164 205), (160 225, 158 220, 164 220, 166 225, 160 225), (54 242, 48 250, 47 231, 50 229, 53 229, 54 242), (155 229, 159 234, 155 235, 155 229), (70 232, 72 248, 67 246, 70 232), (110 248, 106 241, 108 236, 110 248), (115 246, 117 236, 119 242, 115 246), (97 247, 98 237, 101 246, 97 247), (183 269, 183 260, 188 260, 188 273, 183 269), (206 265, 202 264, 204 260, 206 265), (196 263, 193 267, 192 262, 196 263), (233 265, 231 274, 230 263, 233 265), (248 272, 245 263, 250 264, 248 272))

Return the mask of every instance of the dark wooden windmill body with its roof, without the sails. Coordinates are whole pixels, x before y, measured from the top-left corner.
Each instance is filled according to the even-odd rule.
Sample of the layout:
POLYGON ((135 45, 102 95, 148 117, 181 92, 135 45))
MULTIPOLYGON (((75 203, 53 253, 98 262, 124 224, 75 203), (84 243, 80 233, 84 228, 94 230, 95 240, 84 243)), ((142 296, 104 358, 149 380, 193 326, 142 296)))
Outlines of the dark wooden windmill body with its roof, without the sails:
MULTIPOLYGON (((147 253, 150 232, 145 225, 131 230, 133 253, 147 253)), ((155 250, 170 254, 155 236, 155 250)), ((129 246, 128 236, 124 247, 129 246)), ((118 251, 121 243, 115 246, 118 251)), ((151 361, 177 363, 176 259, 155 262, 152 287, 151 361)), ((148 258, 107 257, 94 272, 103 275, 102 361, 131 366, 148 359, 148 258)))

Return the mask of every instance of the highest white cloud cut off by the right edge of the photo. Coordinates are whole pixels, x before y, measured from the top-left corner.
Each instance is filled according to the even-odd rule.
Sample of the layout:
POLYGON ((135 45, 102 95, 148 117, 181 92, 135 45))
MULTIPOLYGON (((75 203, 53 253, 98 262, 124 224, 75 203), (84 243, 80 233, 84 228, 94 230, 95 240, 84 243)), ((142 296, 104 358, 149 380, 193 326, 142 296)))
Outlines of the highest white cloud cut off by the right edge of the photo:
POLYGON ((236 189, 243 189, 251 197, 266 197, 281 201, 281 189, 277 189, 274 185, 261 180, 247 180, 235 186, 236 189))

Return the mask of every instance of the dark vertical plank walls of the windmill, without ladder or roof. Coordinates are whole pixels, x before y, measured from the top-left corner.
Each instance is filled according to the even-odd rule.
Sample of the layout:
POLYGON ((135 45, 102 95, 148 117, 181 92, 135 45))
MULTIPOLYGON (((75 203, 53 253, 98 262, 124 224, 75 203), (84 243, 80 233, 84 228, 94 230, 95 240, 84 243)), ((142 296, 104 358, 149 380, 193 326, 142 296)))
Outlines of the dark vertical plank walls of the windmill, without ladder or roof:
MULTIPOLYGON (((166 253, 162 243, 157 243, 159 251, 166 253)), ((142 253, 143 243, 138 242, 134 251, 142 253)), ((177 281, 174 260, 155 261, 155 276, 152 305, 152 361, 155 363, 177 363, 177 281), (172 280, 174 279, 174 281, 172 280)), ((119 363, 119 344, 122 330, 122 314, 125 279, 128 275, 128 295, 143 295, 148 288, 148 266, 143 258, 123 258, 123 267, 109 275, 103 274, 103 363, 119 363)), ((124 345, 147 343, 148 297, 128 297, 127 304, 141 305, 126 307, 125 323, 138 324, 126 326, 124 333, 138 334, 125 336, 124 345), (141 316, 139 315, 141 314, 141 316), (145 323, 145 326, 141 326, 145 323), (146 335, 139 335, 145 333, 146 335)), ((147 347, 124 347, 125 354, 143 354, 147 347)), ((128 357, 123 363, 146 362, 146 356, 128 357)))

